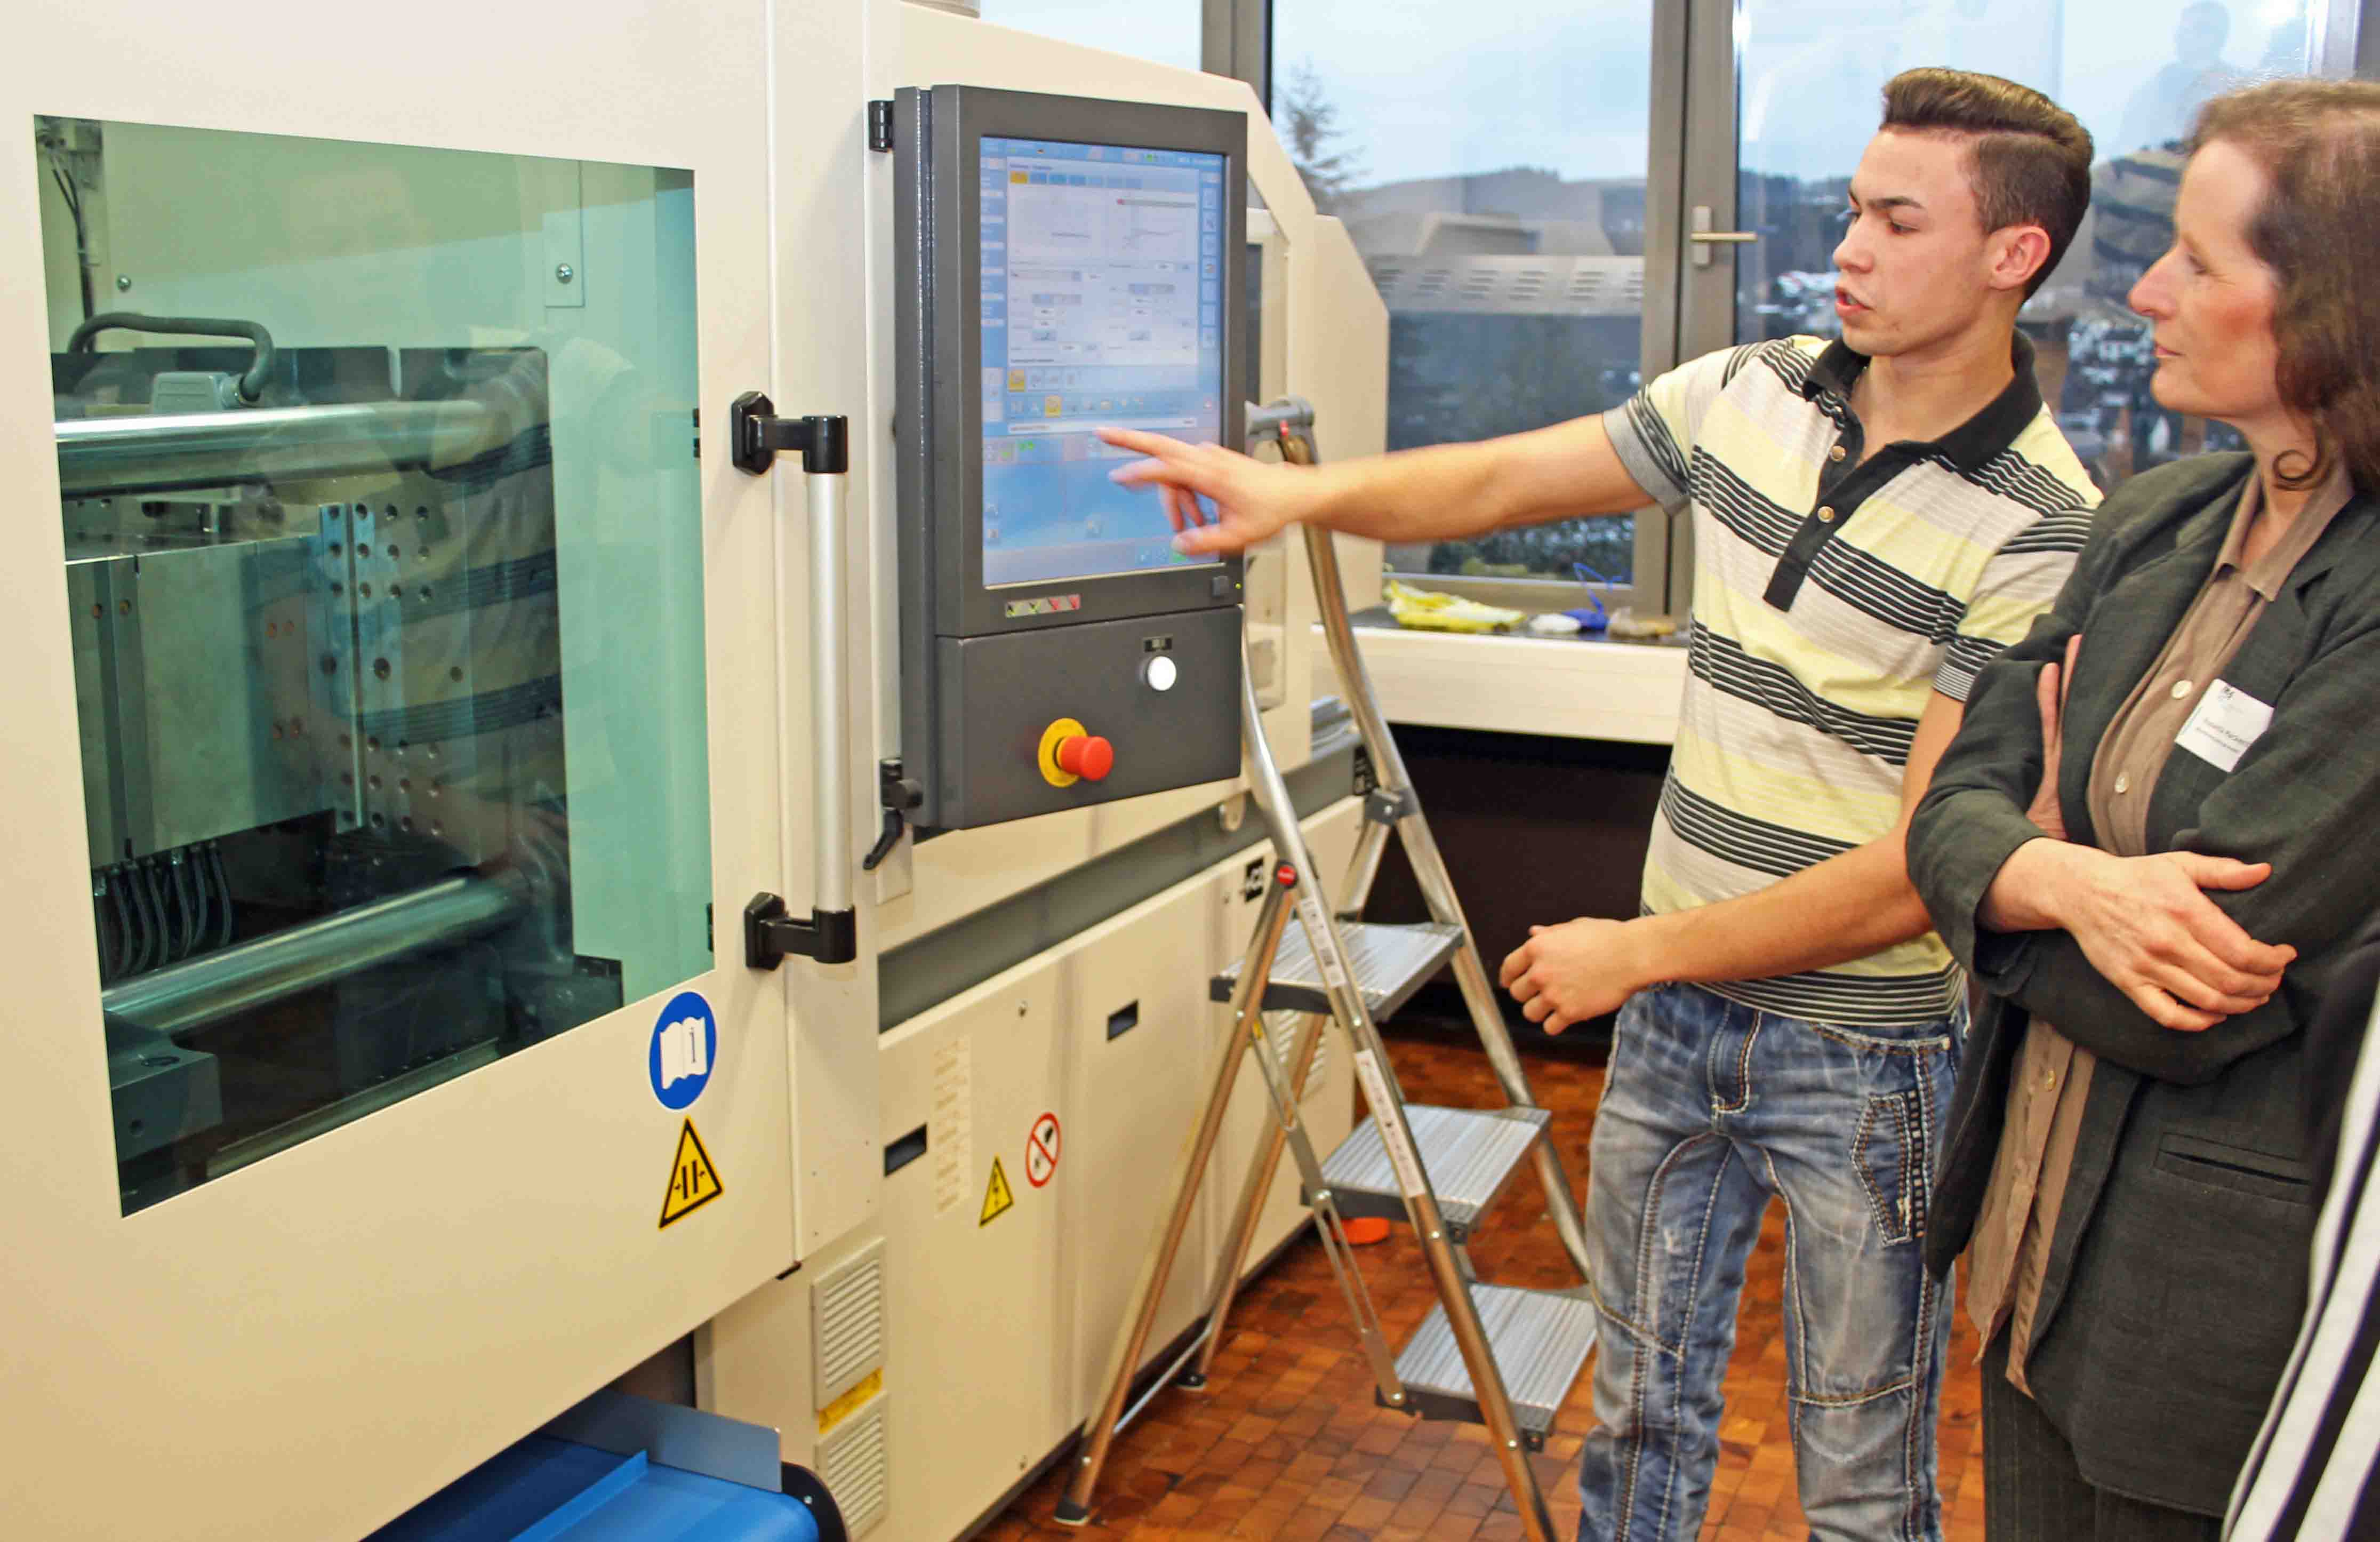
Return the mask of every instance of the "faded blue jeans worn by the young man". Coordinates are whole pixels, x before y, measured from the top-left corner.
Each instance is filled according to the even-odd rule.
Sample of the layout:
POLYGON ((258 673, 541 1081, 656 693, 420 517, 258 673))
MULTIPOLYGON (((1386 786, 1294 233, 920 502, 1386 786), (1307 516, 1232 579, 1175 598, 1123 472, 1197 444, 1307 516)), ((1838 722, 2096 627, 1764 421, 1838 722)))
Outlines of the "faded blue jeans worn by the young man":
POLYGON ((1925 1206, 1966 1038, 1849 1030, 1695 985, 1621 1009, 1587 1171, 1602 1306, 1580 1542, 1692 1542, 1745 1259, 1785 1199, 1785 1378, 1811 1537, 1940 1542, 1947 1280, 1925 1206))

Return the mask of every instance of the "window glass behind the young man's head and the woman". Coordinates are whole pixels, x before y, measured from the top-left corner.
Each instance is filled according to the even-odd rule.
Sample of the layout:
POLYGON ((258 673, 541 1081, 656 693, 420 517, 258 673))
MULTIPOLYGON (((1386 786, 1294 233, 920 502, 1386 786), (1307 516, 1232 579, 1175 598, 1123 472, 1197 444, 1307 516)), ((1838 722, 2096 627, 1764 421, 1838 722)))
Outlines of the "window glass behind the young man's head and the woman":
POLYGON ((2149 326, 2125 295, 2173 240, 2180 140, 2197 107, 2306 71, 2301 0, 1928 0, 1894 12, 1856 0, 1740 0, 1735 38, 1737 228, 1759 236, 1735 247, 1737 340, 1837 331, 1833 250, 1883 83, 1918 64, 1980 69, 2059 100, 2097 143, 2092 212, 2018 319, 2075 452, 2106 488, 2237 443, 2230 428, 2168 414, 2149 397, 2149 326))

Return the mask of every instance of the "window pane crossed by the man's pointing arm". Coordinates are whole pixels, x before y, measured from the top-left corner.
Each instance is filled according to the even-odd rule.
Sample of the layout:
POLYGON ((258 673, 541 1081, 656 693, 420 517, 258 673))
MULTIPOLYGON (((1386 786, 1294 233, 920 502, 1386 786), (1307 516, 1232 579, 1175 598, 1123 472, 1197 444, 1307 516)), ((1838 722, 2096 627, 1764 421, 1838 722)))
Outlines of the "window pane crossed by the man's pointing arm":
MULTIPOLYGON (((1652 0, 1276 0, 1273 128, 1390 314, 1388 445, 1476 440, 1640 383, 1652 0)), ((1390 547, 1440 576, 1628 583, 1633 521, 1390 547)))

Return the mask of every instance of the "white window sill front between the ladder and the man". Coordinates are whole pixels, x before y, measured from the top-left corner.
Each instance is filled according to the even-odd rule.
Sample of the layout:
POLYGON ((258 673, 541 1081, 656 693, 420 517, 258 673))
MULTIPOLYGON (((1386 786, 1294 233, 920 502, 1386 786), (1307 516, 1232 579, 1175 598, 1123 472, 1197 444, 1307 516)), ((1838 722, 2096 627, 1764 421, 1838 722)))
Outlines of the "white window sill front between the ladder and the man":
POLYGON ((1380 612, 1357 616, 1354 635, 1390 723, 1626 745, 1678 740, 1680 642, 1426 633, 1380 612))

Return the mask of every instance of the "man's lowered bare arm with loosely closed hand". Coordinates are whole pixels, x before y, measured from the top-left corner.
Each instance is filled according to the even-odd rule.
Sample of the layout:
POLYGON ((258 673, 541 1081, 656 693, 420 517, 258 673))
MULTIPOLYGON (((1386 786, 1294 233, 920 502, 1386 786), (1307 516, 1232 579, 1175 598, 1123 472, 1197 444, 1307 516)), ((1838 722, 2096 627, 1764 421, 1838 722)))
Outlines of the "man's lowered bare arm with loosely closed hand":
POLYGON ((1561 1033, 1618 1009, 1666 980, 1766 980, 1866 959, 1923 938, 1933 919, 1909 883, 1909 816, 1966 707, 1940 690, 1925 702, 1902 769, 1892 830, 1780 878, 1768 888, 1635 921, 1580 919, 1530 928, 1504 959, 1504 988, 1533 1023, 1561 1033))

